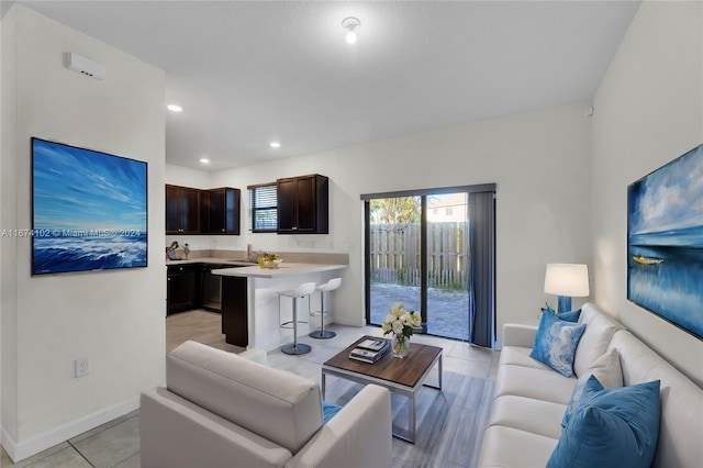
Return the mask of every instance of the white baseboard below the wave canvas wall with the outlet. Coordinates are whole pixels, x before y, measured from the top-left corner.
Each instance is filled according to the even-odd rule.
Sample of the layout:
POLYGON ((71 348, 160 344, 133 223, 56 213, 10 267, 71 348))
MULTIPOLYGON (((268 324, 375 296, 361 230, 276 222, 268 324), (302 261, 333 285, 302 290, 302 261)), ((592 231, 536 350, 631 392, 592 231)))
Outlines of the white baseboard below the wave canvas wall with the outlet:
POLYGON ((18 443, 14 441, 4 427, 0 430, 0 443, 14 463, 24 460, 33 455, 52 448, 69 438, 76 437, 87 431, 98 427, 120 416, 131 413, 140 408, 140 399, 135 398, 116 406, 98 411, 85 417, 71 421, 70 423, 60 425, 44 434, 30 438, 29 441, 18 443))

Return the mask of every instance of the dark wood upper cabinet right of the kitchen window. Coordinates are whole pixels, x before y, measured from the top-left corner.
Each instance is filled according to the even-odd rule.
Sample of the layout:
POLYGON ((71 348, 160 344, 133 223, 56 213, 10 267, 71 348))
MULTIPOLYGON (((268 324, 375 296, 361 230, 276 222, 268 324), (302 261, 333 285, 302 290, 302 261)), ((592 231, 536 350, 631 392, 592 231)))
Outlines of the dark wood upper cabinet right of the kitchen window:
POLYGON ((319 174, 276 181, 278 234, 328 234, 330 179, 319 174))

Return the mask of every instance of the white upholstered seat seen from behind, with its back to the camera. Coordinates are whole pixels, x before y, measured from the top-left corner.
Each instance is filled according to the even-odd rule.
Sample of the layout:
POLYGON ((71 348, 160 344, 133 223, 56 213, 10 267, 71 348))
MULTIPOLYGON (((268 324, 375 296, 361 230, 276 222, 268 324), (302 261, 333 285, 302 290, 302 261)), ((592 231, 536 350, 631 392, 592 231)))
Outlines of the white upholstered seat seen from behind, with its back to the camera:
POLYGON ((366 386, 323 424, 316 382, 196 342, 168 353, 140 420, 143 468, 392 464, 387 389, 366 386))

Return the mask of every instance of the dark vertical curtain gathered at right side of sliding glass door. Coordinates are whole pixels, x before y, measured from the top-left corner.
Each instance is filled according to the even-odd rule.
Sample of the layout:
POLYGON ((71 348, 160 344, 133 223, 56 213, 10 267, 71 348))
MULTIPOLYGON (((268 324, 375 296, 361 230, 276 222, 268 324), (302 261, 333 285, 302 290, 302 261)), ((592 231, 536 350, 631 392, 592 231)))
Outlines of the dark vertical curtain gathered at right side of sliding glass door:
POLYGON ((495 192, 469 193, 469 342, 495 341, 495 192))

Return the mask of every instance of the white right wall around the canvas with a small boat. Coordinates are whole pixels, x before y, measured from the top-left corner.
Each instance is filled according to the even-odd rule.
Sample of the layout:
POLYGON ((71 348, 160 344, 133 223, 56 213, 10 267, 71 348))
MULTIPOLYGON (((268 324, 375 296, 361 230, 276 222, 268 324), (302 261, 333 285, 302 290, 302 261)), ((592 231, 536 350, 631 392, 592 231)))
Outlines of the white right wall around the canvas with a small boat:
MULTIPOLYGON (((701 2, 643 2, 594 99, 596 302, 703 385, 703 342, 627 296, 627 186, 703 143, 701 2)), ((701 311, 695 311, 700 313, 701 311)))

